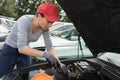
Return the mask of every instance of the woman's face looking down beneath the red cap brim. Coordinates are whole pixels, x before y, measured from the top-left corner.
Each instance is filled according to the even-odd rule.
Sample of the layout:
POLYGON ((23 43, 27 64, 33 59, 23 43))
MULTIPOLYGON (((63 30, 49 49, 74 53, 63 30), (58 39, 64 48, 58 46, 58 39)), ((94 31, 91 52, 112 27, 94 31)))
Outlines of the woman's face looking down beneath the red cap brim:
POLYGON ((52 22, 49 22, 45 17, 39 16, 38 18, 38 24, 41 27, 41 29, 47 30, 51 27, 52 22))

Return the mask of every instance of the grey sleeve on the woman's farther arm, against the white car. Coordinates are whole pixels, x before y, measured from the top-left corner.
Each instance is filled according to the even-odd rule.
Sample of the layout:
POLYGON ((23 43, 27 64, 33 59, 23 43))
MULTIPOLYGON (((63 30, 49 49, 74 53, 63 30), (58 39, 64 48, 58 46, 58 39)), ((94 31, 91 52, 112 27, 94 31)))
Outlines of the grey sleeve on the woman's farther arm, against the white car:
POLYGON ((44 42, 45 42, 47 51, 49 51, 51 48, 53 48, 49 30, 46 30, 43 32, 43 37, 44 37, 44 42))

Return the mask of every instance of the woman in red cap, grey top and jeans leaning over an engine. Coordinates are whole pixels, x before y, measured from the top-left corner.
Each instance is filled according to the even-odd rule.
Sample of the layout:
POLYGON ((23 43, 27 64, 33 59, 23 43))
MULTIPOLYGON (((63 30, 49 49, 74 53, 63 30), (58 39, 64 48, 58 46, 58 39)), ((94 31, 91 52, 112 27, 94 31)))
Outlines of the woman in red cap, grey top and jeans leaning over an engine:
POLYGON ((29 66, 31 64, 29 56, 45 57, 52 65, 58 63, 49 36, 49 28, 55 21, 60 21, 58 8, 50 2, 41 4, 35 16, 23 15, 16 21, 0 53, 0 77, 12 71, 15 65, 17 68, 29 66), (48 52, 28 46, 29 42, 37 41, 41 34, 48 52))

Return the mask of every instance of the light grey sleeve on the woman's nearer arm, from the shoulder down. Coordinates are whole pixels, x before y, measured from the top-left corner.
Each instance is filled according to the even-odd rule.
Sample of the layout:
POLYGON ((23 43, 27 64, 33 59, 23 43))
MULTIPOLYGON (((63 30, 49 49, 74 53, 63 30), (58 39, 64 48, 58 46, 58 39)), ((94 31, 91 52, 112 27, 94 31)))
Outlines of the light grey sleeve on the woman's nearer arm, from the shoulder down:
POLYGON ((20 51, 24 46, 28 45, 28 24, 25 17, 21 17, 18 20, 18 37, 17 37, 17 47, 20 51))

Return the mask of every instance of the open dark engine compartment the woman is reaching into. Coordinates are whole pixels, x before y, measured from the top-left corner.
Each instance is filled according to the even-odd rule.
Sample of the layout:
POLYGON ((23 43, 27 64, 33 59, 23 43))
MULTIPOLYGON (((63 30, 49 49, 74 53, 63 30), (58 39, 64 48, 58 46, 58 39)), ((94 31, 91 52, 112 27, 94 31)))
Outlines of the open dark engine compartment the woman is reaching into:
POLYGON ((68 73, 63 73, 60 68, 50 67, 48 63, 41 63, 15 70, 6 75, 3 80, 32 80, 40 72, 54 76, 54 80, 120 80, 119 67, 97 58, 66 60, 62 63, 66 65, 68 73), (26 75, 28 72, 29 78, 26 75))

